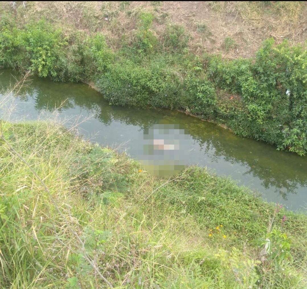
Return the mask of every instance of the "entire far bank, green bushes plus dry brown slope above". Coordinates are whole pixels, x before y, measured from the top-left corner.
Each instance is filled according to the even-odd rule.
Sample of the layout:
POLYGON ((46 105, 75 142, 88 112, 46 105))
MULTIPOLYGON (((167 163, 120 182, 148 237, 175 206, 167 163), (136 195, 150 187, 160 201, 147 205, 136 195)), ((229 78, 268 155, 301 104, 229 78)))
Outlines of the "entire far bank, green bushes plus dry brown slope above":
POLYGON ((289 37, 290 28, 285 37, 274 36, 286 29, 287 19, 300 27, 304 1, 201 4, 217 21, 236 13, 232 25, 240 19, 246 31, 270 31, 244 58, 235 35, 224 34, 217 45, 206 23, 179 25, 173 9, 162 10, 163 2, 9 3, 1 4, 0 65, 55 81, 95 83, 110 104, 182 110, 239 136, 306 154, 305 30, 296 34, 300 41, 289 37), (196 48, 199 36, 219 51, 207 42, 196 48))

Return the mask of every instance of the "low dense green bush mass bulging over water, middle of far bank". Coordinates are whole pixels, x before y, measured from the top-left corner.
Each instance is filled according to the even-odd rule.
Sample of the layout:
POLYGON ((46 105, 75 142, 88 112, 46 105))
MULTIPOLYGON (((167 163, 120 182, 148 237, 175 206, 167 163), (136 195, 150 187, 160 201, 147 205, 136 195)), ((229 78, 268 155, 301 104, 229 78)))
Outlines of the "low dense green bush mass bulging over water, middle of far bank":
POLYGON ((214 118, 216 92, 211 83, 174 73, 176 69, 166 61, 162 56, 146 64, 117 61, 100 77, 97 87, 111 104, 181 109, 214 118))

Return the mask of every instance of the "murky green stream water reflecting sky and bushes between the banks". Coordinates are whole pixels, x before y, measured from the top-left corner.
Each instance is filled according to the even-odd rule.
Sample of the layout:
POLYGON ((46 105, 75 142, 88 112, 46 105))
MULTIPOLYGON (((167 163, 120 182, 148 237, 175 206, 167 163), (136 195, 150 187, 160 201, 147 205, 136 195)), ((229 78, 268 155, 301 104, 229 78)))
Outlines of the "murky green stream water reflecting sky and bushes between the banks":
MULTIPOLYGON (((3 91, 11 80, 10 71, 3 71, 3 91)), ((236 137, 217 125, 177 111, 109 106, 85 84, 34 79, 15 96, 10 118, 37 119, 55 109, 61 118, 72 121, 91 116, 79 125, 82 134, 102 145, 125 149, 154 174, 170 175, 171 170, 198 164, 260 191, 268 201, 293 210, 307 208, 306 157, 236 137), (159 149, 162 140, 163 149, 159 149), (175 149, 177 145, 179 149, 175 149)), ((4 117, 3 110, 0 113, 4 117)))

